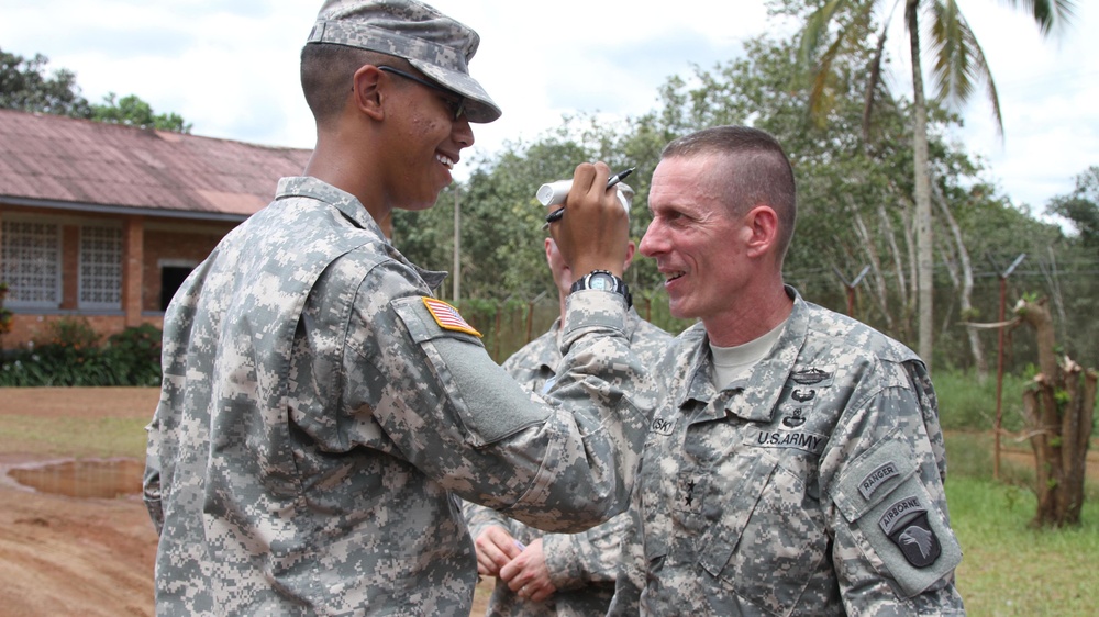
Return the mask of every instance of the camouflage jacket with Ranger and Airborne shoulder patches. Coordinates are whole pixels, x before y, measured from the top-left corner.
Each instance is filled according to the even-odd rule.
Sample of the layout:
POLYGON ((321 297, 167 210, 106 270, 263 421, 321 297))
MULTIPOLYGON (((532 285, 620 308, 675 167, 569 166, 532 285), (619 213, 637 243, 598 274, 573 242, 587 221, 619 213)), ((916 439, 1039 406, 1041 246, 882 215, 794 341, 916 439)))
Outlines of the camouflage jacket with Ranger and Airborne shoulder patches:
POLYGON ((787 293, 775 348, 725 389, 701 324, 654 369, 643 541, 624 545, 612 614, 963 614, 926 367, 787 293))

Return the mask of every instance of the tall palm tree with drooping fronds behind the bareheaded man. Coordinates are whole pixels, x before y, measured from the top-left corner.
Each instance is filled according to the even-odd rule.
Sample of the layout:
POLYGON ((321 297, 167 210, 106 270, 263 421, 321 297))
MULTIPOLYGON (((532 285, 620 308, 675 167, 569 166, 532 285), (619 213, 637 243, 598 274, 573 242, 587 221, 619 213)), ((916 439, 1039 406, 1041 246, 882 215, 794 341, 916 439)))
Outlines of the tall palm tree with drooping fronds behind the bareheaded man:
MULTIPOLYGON (((1022 8, 1033 18, 1042 34, 1048 35, 1055 25, 1066 24, 1073 16, 1075 0, 1003 0, 1013 8, 1022 8)), ((917 290, 919 307, 919 348, 923 360, 931 367, 932 356, 932 266, 933 242, 931 236, 931 177, 928 169, 928 106, 923 89, 923 60, 920 38, 920 20, 930 23, 931 41, 928 51, 934 59, 931 76, 934 80, 934 96, 937 100, 961 106, 973 94, 977 82, 987 86, 988 100, 997 127, 1002 135, 1003 120, 996 83, 985 61, 985 54, 962 11, 958 0, 825 0, 812 12, 801 32, 800 64, 810 70, 810 110, 814 117, 821 117, 826 97, 825 86, 831 77, 832 60, 844 45, 866 33, 866 24, 874 16, 875 9, 891 4, 890 11, 900 2, 904 3, 904 25, 909 37, 909 53, 912 60, 912 150, 915 201, 915 245, 917 245, 917 290), (829 33, 829 25, 841 15, 844 22, 837 29, 832 43, 823 53, 819 48, 829 33), (819 57, 818 57, 819 56, 819 57)), ((867 138, 874 94, 879 86, 881 61, 885 48, 886 27, 892 13, 884 20, 878 38, 877 52, 870 60, 869 87, 863 115, 863 134, 867 138)))

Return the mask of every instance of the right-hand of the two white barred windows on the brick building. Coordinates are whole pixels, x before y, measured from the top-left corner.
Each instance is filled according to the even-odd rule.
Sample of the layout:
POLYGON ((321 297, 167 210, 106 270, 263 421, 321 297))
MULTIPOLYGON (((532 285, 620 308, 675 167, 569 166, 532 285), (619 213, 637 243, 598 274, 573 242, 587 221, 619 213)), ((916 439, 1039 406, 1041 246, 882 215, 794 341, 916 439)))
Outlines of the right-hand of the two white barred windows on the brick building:
POLYGON ((80 308, 122 307, 122 229, 80 227, 80 308))

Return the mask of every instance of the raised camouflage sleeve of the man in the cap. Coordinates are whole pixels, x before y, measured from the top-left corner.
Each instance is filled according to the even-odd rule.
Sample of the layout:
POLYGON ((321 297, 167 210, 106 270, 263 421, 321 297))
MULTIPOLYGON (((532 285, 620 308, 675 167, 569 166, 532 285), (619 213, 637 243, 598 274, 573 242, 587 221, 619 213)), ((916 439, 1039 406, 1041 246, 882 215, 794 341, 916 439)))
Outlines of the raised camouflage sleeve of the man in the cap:
POLYGON ((651 403, 625 391, 646 372, 620 296, 573 294, 570 380, 547 404, 478 338, 436 321, 403 267, 374 270, 353 303, 347 380, 401 457, 444 490, 545 530, 582 530, 623 508, 651 403))

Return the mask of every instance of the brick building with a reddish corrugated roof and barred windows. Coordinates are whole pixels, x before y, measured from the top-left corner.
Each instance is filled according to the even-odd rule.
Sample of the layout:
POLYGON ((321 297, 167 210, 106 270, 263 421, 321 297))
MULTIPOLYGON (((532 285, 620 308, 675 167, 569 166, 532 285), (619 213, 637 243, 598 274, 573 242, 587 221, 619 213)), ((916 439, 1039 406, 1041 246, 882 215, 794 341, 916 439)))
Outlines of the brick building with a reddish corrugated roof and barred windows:
POLYGON ((184 278, 310 150, 0 110, 3 348, 84 317, 152 323, 184 278))

